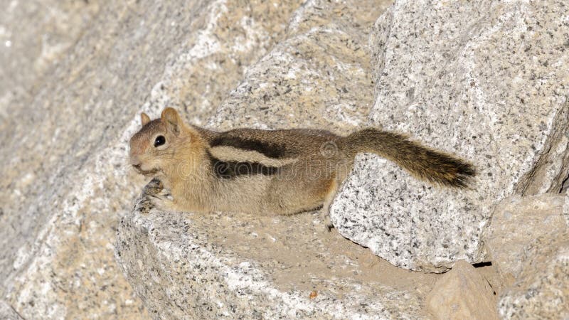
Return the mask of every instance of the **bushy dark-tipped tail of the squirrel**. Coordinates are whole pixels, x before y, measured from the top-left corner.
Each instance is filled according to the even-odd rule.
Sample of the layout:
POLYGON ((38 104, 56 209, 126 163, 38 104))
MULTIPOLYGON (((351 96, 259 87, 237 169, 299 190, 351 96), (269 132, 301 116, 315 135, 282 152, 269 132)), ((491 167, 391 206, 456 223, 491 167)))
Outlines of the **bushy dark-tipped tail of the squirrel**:
POLYGON ((469 179, 476 174, 472 164, 395 132, 363 129, 345 137, 344 145, 353 156, 358 152, 373 152, 395 162, 413 176, 445 186, 466 188, 469 179))

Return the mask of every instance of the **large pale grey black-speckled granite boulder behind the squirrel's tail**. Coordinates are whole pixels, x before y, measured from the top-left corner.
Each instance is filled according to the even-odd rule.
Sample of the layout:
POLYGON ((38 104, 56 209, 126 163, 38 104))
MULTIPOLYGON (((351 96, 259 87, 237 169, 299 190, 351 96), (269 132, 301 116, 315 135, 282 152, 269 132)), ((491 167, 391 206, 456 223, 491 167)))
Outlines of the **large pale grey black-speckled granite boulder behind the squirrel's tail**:
POLYGON ((566 1, 396 1, 371 33, 370 124, 477 166, 472 190, 417 181, 358 156, 332 207, 346 238, 394 265, 441 272, 487 258, 481 236, 513 193, 559 191, 567 176, 566 1))

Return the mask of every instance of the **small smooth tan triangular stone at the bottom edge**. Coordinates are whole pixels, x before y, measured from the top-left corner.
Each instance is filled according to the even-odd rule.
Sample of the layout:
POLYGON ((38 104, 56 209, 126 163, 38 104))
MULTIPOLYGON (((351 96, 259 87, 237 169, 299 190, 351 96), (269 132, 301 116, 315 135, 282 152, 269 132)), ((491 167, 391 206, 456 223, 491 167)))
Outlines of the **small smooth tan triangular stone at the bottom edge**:
POLYGON ((427 296, 427 309, 437 319, 498 319, 494 291, 464 260, 435 284, 427 296))

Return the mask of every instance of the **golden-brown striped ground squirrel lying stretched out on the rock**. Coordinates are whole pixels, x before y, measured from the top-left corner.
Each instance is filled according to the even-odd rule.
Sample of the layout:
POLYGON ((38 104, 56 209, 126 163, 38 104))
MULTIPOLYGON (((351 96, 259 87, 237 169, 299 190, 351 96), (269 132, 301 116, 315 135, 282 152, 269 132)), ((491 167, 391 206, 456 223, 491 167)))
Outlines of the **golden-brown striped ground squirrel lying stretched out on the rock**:
POLYGON ((329 206, 359 152, 373 152, 418 178, 465 188, 474 167, 402 134, 368 128, 340 137, 324 130, 233 129, 186 125, 166 108, 160 119, 142 113, 130 139, 130 163, 156 176, 171 200, 160 206, 193 212, 292 214, 329 206))

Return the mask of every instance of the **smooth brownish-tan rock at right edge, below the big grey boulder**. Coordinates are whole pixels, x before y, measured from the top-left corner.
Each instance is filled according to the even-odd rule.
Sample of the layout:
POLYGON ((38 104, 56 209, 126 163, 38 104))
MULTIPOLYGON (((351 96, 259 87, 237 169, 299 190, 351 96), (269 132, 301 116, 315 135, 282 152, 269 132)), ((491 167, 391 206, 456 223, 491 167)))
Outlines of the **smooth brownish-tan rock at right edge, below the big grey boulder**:
MULTIPOLYGON (((492 215, 486 244, 494 265, 506 287, 520 277, 526 247, 536 238, 568 230, 563 217, 566 196, 513 196, 501 201, 492 215)), ((568 201, 568 203, 565 203, 568 201)))

